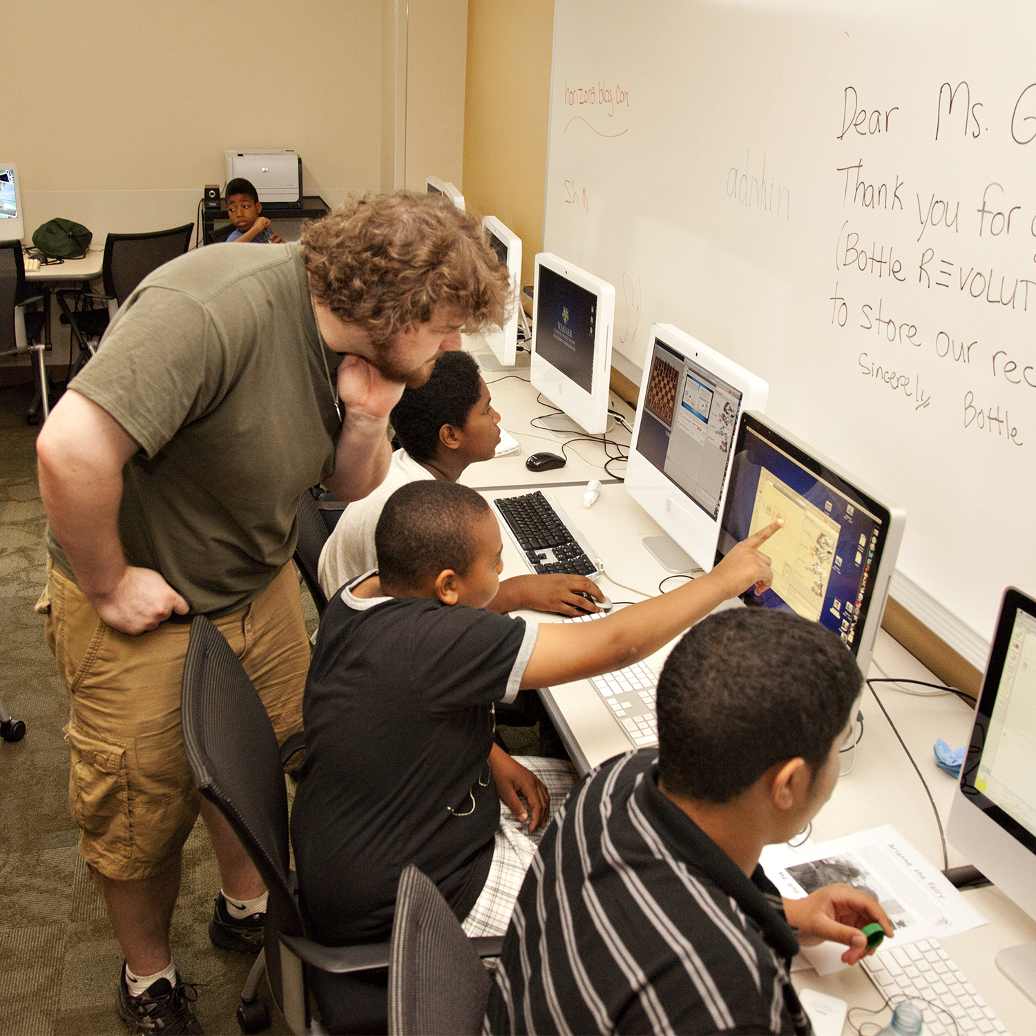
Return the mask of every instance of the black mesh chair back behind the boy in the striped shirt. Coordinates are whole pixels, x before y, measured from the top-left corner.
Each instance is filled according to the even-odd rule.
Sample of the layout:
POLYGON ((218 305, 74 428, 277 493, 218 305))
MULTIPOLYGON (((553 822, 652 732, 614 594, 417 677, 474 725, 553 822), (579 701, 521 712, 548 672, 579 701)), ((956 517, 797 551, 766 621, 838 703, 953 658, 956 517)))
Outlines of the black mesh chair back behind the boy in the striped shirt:
POLYGON ((391 1036, 481 1033, 489 976, 442 893, 412 864, 396 893, 388 958, 391 1036))

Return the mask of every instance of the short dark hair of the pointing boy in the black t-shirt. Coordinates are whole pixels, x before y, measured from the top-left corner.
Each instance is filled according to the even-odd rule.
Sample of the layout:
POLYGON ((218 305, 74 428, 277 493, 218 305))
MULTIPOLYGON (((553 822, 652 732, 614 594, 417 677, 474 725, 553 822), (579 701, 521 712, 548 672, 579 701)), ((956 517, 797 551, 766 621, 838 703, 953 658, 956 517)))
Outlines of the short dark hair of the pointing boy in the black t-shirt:
POLYGON ((464 575, 478 553, 478 521, 492 514, 473 489, 455 482, 421 480, 385 500, 374 529, 381 585, 416 589, 429 573, 464 575))

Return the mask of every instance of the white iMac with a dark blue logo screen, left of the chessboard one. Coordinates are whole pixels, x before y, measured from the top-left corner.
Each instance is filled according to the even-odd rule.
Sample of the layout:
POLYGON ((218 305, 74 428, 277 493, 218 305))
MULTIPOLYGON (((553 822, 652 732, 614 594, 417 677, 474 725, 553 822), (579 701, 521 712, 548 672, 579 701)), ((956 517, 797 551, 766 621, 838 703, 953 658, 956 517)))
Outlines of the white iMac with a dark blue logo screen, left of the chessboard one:
POLYGON ((530 382, 584 431, 608 424, 615 289, 550 252, 536 257, 530 382))

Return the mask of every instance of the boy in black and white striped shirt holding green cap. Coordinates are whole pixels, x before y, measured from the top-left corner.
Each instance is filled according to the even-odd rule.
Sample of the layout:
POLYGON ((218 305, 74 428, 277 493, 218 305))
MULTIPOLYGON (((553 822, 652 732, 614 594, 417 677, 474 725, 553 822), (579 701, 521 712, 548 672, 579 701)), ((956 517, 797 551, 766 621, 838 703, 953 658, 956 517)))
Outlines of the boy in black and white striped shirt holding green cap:
POLYGON ((758 858, 830 797, 861 683, 798 615, 694 627, 659 680, 658 749, 589 773, 547 830, 485 1032, 809 1033, 787 971, 800 941, 844 943, 855 963, 860 928, 892 925, 844 885, 782 902, 758 858))

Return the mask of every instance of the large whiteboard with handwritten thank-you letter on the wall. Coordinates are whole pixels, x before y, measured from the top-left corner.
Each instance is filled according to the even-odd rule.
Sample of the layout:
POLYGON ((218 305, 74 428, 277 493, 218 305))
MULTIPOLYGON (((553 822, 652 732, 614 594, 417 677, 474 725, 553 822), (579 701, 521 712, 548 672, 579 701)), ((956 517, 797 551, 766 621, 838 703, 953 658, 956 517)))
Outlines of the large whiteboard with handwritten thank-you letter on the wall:
POLYGON ((615 285, 614 366, 664 321, 766 378, 905 508, 893 596, 979 667, 1036 575, 1034 38, 1026 3, 555 2, 544 249, 615 285))

